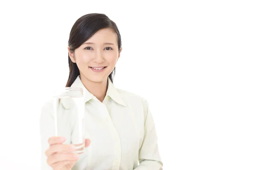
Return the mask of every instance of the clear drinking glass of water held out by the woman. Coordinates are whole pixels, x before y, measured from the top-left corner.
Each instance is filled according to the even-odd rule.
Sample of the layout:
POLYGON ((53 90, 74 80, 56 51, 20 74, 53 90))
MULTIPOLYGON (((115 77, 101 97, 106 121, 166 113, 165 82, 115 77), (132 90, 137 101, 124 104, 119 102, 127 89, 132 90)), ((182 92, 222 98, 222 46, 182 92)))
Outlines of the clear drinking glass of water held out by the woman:
POLYGON ((74 153, 84 152, 84 92, 82 88, 64 88, 56 91, 53 96, 55 135, 67 134, 67 127, 73 127, 70 132, 71 143, 76 146, 74 153))

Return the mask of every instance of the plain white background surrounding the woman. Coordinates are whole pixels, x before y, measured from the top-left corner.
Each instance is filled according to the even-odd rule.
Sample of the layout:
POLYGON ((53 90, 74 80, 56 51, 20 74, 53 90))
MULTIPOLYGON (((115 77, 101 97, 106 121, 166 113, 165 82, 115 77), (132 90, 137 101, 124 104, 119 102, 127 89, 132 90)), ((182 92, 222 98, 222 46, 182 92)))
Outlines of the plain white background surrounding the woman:
POLYGON ((256 6, 247 0, 0 3, 0 170, 39 170, 39 116, 66 85, 75 21, 104 13, 116 88, 148 100, 164 170, 256 169, 256 6))

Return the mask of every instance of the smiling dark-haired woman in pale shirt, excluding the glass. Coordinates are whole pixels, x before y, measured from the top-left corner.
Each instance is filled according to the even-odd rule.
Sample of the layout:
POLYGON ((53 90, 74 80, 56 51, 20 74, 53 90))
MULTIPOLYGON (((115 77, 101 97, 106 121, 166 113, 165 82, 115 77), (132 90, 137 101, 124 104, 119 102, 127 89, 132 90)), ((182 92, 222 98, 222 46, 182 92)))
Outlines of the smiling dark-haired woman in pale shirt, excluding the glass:
POLYGON ((162 170, 147 101, 113 85, 121 51, 119 30, 105 14, 86 14, 72 27, 66 87, 84 88, 90 139, 84 153, 72 153, 70 133, 54 136, 52 102, 48 102, 41 113, 43 170, 162 170))

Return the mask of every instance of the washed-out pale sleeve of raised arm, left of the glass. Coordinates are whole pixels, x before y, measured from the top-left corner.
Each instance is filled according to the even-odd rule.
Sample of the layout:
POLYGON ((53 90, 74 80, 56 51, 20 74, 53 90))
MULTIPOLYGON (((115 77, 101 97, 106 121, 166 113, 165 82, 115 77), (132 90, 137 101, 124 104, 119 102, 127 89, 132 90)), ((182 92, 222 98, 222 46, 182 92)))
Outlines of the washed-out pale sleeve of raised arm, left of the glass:
POLYGON ((45 104, 41 108, 40 116, 40 135, 41 135, 41 170, 52 170, 47 164, 47 156, 45 151, 49 147, 48 139, 55 136, 54 119, 50 113, 50 103, 45 104))

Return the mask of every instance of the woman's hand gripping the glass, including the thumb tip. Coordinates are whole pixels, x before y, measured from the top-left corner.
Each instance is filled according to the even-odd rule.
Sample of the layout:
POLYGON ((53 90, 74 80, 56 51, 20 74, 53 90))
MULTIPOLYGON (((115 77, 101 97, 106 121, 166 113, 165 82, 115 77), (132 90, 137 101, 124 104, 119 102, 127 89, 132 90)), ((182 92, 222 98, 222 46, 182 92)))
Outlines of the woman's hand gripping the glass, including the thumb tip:
MULTIPOLYGON (((71 170, 79 159, 78 154, 72 153, 75 151, 75 146, 72 144, 63 144, 64 137, 51 137, 48 140, 49 148, 45 151, 47 156, 47 164, 53 170, 71 170)), ((90 139, 85 139, 85 147, 90 145, 90 139)))

